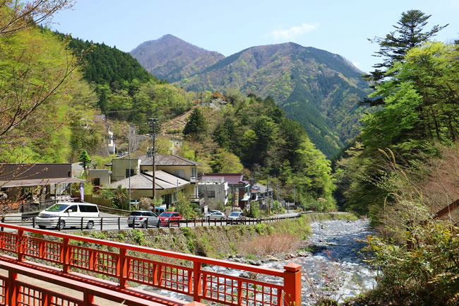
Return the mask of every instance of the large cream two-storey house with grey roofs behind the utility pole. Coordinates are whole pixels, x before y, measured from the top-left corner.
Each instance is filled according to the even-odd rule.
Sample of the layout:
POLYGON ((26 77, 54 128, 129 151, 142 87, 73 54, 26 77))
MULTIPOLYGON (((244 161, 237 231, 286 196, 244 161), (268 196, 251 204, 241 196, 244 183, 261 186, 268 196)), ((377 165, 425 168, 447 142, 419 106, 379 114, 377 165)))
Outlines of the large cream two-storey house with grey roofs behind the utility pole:
MULTIPOLYGON (((116 158, 108 164, 112 167, 112 183, 109 187, 116 188, 118 184, 129 188, 129 177, 131 177, 131 199, 140 200, 141 197, 153 196, 153 158, 151 155, 141 155, 136 158, 116 158), (141 175, 141 176, 138 176, 141 175), (128 179, 128 180, 126 180, 128 179), (144 187, 150 180, 149 190, 144 187), (127 185, 126 185, 127 184, 127 185)), ((169 207, 176 201, 177 190, 182 190, 189 196, 191 202, 202 204, 203 198, 198 192, 198 165, 193 160, 181 158, 173 154, 155 155, 155 182, 156 198, 159 196, 169 207)))

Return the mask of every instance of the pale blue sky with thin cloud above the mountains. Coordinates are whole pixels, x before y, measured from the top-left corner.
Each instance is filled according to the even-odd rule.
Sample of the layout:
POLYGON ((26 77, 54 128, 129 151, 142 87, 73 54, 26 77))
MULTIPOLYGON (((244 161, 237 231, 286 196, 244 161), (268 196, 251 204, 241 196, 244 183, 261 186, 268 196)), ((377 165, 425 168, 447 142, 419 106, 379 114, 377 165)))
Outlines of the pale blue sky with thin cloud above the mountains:
POLYGON ((378 46, 367 38, 386 35, 400 13, 414 8, 432 15, 429 25, 450 24, 436 40, 459 38, 459 0, 78 0, 50 27, 126 52, 165 34, 226 56, 291 41, 340 54, 369 71, 378 46))

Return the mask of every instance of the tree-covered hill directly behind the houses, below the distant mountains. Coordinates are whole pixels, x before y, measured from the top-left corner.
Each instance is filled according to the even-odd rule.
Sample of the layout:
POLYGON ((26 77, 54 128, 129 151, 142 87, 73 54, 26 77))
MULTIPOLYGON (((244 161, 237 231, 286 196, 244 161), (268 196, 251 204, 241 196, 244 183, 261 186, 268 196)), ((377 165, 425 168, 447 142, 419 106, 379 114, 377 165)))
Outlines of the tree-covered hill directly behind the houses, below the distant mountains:
POLYGON ((183 130, 189 141, 189 148, 181 148, 185 157, 210 167, 204 172, 244 171, 258 182, 270 177, 287 201, 335 208, 330 160, 298 122, 287 119, 270 97, 228 93, 224 98, 225 107, 198 106, 191 112, 183 130))

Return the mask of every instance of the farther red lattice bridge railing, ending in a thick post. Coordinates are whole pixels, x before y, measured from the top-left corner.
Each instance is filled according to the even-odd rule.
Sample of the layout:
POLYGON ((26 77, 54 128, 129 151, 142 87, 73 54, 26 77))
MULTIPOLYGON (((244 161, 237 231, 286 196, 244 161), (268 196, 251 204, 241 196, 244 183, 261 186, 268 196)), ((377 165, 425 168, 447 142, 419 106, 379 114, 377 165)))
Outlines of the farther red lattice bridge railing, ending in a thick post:
POLYGON ((0 223, 0 227, 16 230, 16 233, 0 232, 0 249, 16 255, 17 261, 31 257, 52 263, 53 266, 59 264, 64 273, 71 269, 81 269, 112 276, 118 279, 121 289, 126 288, 129 281, 189 295, 196 302, 208 300, 225 305, 301 305, 301 271, 297 264, 287 264, 284 270, 270 269, 6 223, 0 223), (25 233, 59 237, 62 241, 32 237, 25 233), (110 251, 83 247, 83 242, 102 245, 110 251), (188 265, 147 259, 151 255, 179 259, 188 265), (263 274, 274 280, 258 281, 207 271, 203 269, 203 264, 263 274))

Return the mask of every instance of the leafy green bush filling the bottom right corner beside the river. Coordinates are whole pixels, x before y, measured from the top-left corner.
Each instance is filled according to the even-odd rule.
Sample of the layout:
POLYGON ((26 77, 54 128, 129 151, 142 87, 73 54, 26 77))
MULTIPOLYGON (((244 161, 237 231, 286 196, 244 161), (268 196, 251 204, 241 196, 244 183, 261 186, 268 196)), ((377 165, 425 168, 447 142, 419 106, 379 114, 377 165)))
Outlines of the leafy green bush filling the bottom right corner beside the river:
POLYGON ((458 227, 441 221, 424 224, 407 234, 412 248, 369 237, 366 250, 380 273, 370 295, 381 300, 403 300, 405 305, 458 305, 458 227))

